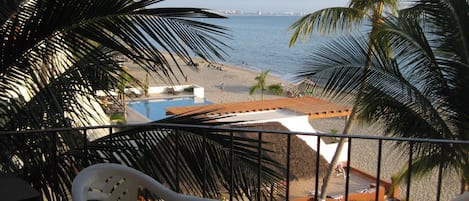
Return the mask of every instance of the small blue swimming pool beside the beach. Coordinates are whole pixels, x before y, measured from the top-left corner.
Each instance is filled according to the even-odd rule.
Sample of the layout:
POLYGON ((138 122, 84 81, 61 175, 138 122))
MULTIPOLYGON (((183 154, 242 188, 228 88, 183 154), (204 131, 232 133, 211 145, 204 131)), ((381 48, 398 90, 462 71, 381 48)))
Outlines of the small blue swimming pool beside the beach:
POLYGON ((191 106, 191 105, 208 105, 213 104, 206 99, 199 100, 195 98, 171 98, 171 99, 154 99, 144 101, 128 102, 127 106, 136 110, 143 116, 152 121, 164 119, 166 115, 166 108, 191 106))

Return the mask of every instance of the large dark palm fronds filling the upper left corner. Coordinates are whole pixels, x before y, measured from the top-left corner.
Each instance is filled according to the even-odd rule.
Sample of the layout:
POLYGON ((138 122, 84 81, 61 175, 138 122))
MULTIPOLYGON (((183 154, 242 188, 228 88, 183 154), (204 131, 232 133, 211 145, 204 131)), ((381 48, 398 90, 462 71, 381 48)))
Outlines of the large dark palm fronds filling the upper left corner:
MULTIPOLYGON (((210 60, 223 57, 226 45, 218 38, 227 37, 227 30, 188 19, 222 16, 203 9, 146 8, 156 2, 37 0, 19 5, 16 17, 7 19, 0 30, 0 40, 5 44, 0 55, 0 72, 4 75, 0 78, 4 83, 0 105, 4 113, 23 111, 21 117, 26 117, 30 110, 23 107, 34 104, 24 102, 43 92, 57 91, 51 87, 60 85, 53 82, 74 84, 68 88, 70 93, 81 89, 91 96, 97 89, 117 87, 123 73, 116 54, 170 81, 178 80, 174 69, 181 71, 170 66, 168 60, 176 61, 173 54, 183 61, 191 60, 190 52, 210 60), (167 57, 164 52, 173 54, 167 57), (23 87, 18 90, 18 86, 23 87)), ((35 100, 45 109, 64 107, 58 113, 76 108, 70 112, 80 116, 82 111, 76 102, 60 106, 60 101, 35 100)), ((29 119, 38 118, 37 113, 31 115, 29 119)), ((8 125, 9 116, 3 116, 2 125, 8 125)), ((30 128, 41 127, 38 121, 31 122, 36 125, 29 124, 30 128)))

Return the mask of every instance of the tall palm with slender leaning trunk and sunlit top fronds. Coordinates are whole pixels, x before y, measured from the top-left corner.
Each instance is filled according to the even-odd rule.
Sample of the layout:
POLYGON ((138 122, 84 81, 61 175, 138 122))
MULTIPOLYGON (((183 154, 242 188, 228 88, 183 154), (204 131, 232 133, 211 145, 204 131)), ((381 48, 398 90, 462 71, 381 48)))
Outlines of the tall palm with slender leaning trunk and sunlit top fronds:
MULTIPOLYGON (((307 38, 311 36, 312 32, 317 30, 320 33, 330 34, 336 31, 359 29, 365 21, 371 23, 370 35, 379 30, 383 23, 383 12, 384 10, 394 14, 397 11, 398 0, 378 0, 378 1, 363 1, 363 0, 351 0, 348 7, 333 7, 325 8, 314 13, 308 14, 293 25, 290 26, 291 30, 294 30, 290 40, 290 46, 292 46, 298 39, 307 38)), ((373 51, 373 43, 371 40, 368 42, 368 61, 365 66, 368 68, 371 65, 371 57, 373 51)), ((381 44, 384 45, 384 44, 381 44)), ((365 68, 361 73, 363 75, 363 85, 366 85, 368 68, 365 68)), ((363 88, 364 86, 362 86, 363 88)), ((359 90, 361 91, 361 90, 359 90)), ((361 92, 358 92, 356 96, 356 102, 361 97, 361 92)), ((352 128, 353 122, 355 121, 356 109, 352 108, 349 119, 344 127, 342 134, 348 134, 352 128)), ((333 159, 329 165, 328 173, 321 187, 321 199, 326 199, 327 188, 329 179, 332 176, 333 170, 337 165, 339 154, 342 152, 344 146, 344 138, 338 143, 337 150, 333 156, 333 159)))

